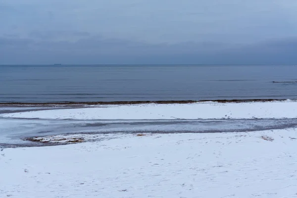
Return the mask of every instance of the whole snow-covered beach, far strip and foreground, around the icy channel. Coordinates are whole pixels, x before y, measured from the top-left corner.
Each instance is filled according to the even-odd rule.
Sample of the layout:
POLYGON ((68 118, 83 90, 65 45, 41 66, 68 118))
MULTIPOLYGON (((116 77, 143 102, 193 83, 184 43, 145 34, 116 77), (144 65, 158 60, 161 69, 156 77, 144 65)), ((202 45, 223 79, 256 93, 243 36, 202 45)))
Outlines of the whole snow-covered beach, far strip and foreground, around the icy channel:
MULTIPOLYGON (((200 122, 187 122, 192 131, 196 128, 199 133, 140 134, 136 130, 46 136, 46 141, 78 137, 83 141, 53 147, 1 149, 0 197, 297 197, 296 101, 99 105, 4 113, 0 117, 1 133, 11 129, 5 123, 18 125, 20 120, 42 121, 43 125, 54 120, 66 124, 76 120, 121 120, 134 126, 134 122, 144 120, 212 119, 231 120, 238 125, 248 120, 249 126, 253 120, 267 119, 273 123, 290 119, 290 127, 284 124, 273 129, 270 124, 269 130, 248 132, 232 128, 223 133, 200 133, 204 130, 199 129, 200 122)), ((215 124, 208 123, 209 127, 215 124)), ((27 125, 30 130, 35 127, 27 125)))

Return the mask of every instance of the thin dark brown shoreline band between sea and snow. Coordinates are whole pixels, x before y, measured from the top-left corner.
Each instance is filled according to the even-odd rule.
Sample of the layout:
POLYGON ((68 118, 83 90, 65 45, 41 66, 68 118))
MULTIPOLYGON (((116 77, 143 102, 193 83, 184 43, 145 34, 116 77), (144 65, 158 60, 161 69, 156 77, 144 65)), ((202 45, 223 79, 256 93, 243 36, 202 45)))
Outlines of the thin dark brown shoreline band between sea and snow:
POLYGON ((242 103, 242 102, 272 102, 272 101, 286 101, 297 99, 215 99, 215 100, 145 100, 145 101, 60 101, 60 102, 0 102, 0 106, 4 105, 120 105, 120 104, 187 104, 196 102, 218 102, 218 103, 242 103))

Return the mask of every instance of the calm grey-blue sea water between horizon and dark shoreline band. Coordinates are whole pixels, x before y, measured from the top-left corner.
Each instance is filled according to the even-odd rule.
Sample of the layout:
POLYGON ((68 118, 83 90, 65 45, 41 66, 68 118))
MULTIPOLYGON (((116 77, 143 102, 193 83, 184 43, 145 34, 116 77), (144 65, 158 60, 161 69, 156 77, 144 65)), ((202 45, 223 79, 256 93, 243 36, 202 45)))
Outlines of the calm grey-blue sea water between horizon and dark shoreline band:
POLYGON ((0 102, 202 99, 297 99, 297 66, 0 66, 0 102))

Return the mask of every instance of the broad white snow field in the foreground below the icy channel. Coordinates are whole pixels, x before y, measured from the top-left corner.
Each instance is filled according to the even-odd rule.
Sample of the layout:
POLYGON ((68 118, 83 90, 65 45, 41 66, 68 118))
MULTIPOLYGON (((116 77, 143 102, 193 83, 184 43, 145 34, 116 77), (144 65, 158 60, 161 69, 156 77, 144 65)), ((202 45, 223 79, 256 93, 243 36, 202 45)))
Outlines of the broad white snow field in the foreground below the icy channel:
POLYGON ((6 148, 0 197, 297 198, 296 132, 114 134, 6 148))

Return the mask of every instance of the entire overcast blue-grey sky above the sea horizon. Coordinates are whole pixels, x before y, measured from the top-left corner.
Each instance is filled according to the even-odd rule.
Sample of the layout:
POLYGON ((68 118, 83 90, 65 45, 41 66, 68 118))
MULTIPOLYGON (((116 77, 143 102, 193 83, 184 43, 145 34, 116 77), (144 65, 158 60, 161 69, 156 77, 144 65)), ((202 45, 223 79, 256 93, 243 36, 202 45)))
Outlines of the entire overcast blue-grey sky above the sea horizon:
POLYGON ((297 64, 297 0, 0 0, 0 64, 297 64))

